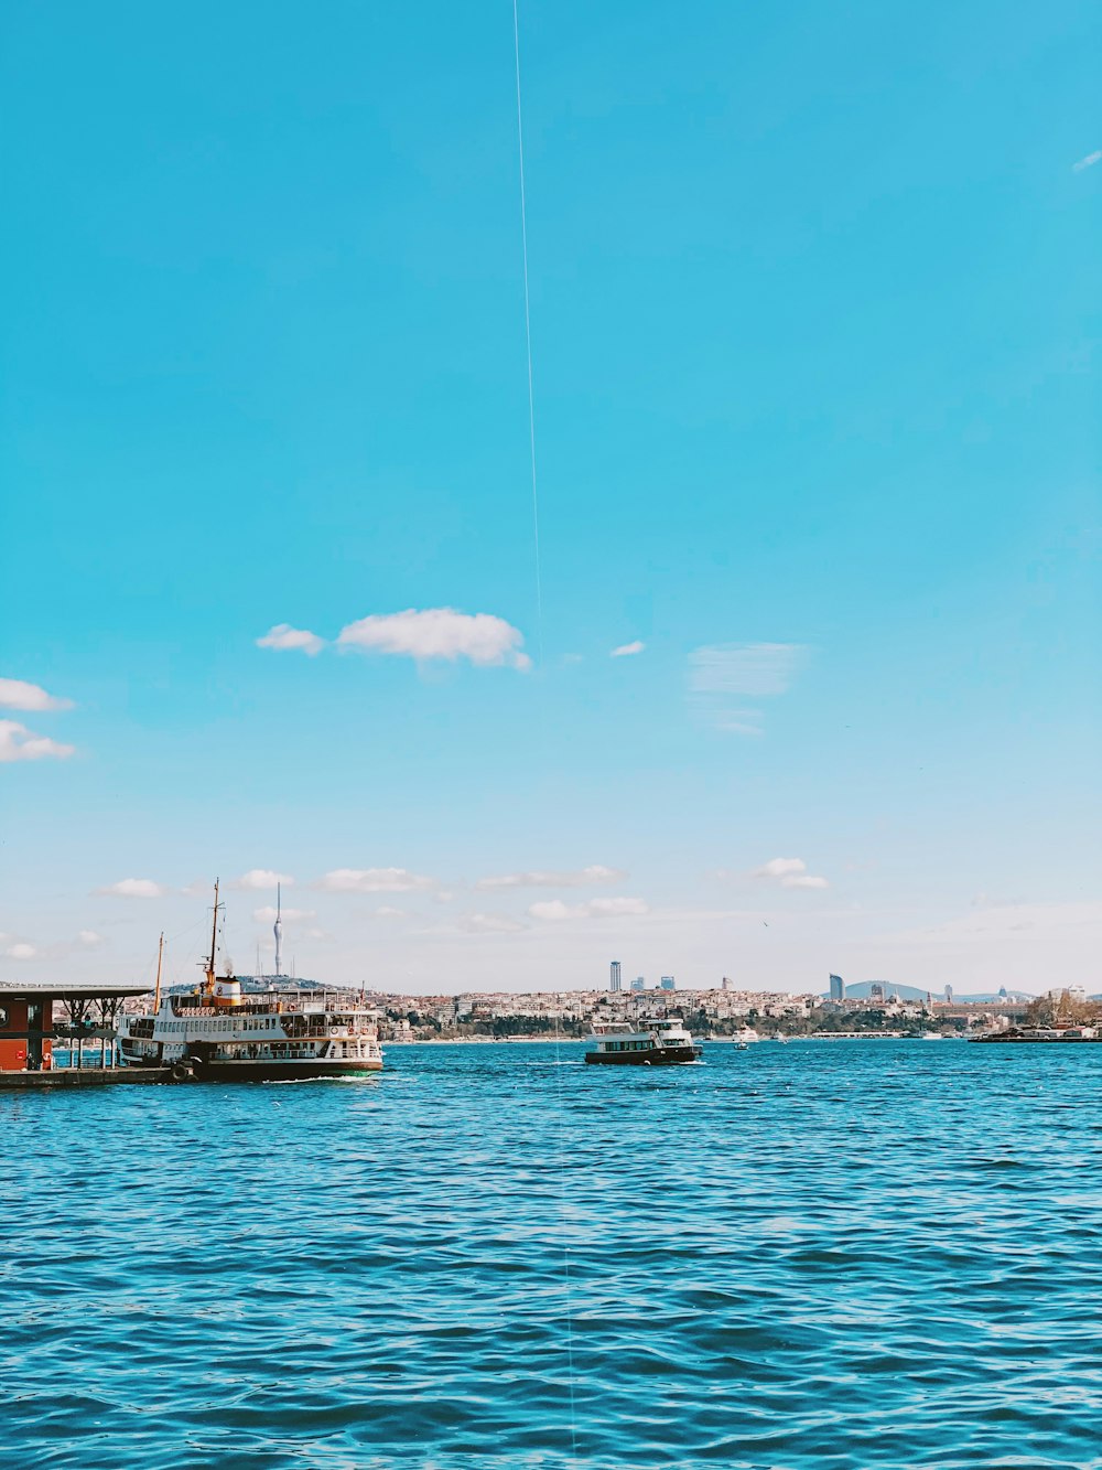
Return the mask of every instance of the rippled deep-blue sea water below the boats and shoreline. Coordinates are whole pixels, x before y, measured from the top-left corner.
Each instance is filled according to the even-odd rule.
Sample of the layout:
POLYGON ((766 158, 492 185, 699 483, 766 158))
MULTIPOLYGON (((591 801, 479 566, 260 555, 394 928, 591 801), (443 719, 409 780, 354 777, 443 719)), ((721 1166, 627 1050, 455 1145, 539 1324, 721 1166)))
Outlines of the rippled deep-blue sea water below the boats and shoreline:
POLYGON ((1102 1047, 0 1092, 3 1464, 1102 1466, 1102 1047))

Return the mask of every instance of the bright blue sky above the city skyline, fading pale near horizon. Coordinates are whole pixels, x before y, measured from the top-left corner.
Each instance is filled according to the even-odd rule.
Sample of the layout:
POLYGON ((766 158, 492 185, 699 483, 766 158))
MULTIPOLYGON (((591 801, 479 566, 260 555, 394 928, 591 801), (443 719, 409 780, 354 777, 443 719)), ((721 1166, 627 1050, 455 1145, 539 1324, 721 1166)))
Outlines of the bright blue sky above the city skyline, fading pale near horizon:
POLYGON ((4 24, 3 973, 1098 988, 1093 6, 522 0, 542 639, 511 7, 4 24))

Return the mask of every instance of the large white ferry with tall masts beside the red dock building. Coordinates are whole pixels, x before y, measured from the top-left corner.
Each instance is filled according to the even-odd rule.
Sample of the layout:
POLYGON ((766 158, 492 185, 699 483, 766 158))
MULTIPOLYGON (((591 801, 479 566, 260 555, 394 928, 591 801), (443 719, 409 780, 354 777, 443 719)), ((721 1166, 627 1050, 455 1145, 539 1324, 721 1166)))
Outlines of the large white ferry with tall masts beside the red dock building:
MULTIPOLYGON (((159 960, 153 1007, 119 1017, 118 1061, 166 1067, 176 1082, 287 1082, 379 1072, 375 1013, 347 992, 303 991, 279 975, 269 989, 245 992, 232 975, 216 976, 219 907, 216 883, 203 983, 162 1000, 159 960)), ((276 970, 281 929, 276 919, 276 970)))

